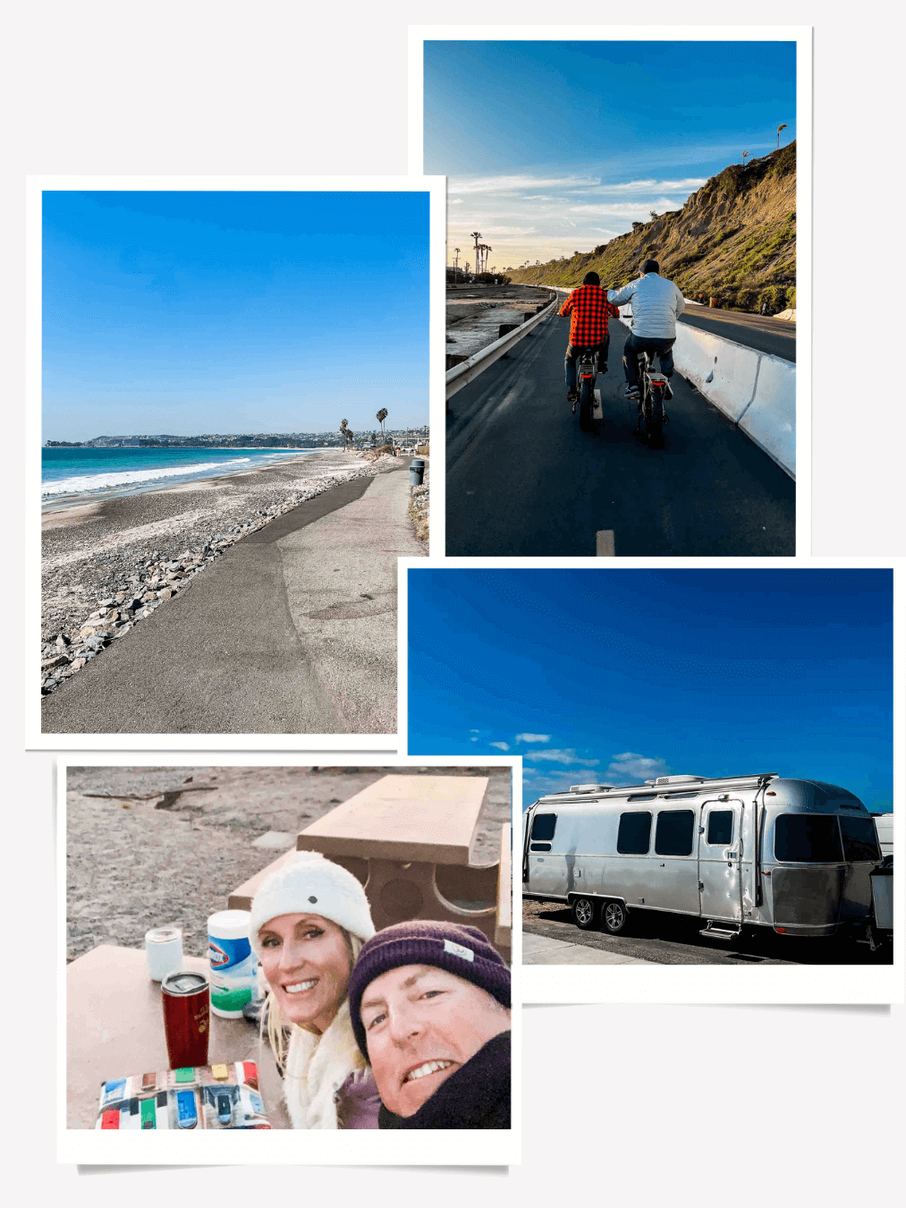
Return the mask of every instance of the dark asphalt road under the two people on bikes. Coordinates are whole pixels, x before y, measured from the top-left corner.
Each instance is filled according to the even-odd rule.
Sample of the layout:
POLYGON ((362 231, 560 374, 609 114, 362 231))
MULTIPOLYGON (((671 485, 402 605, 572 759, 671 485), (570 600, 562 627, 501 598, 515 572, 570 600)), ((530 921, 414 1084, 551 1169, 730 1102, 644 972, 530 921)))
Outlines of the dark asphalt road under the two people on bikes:
POLYGON ((447 402, 447 554, 795 554, 792 480, 676 374, 666 447, 633 435, 627 327, 611 320, 603 422, 567 403, 569 323, 542 320, 447 402))

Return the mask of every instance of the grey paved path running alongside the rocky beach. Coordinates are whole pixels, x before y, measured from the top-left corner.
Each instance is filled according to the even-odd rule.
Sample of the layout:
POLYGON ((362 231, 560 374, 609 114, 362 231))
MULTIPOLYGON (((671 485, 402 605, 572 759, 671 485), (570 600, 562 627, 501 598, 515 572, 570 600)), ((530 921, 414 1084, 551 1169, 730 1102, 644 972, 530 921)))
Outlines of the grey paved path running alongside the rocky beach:
POLYGON ((408 460, 250 534, 42 702, 43 733, 393 734, 408 460))

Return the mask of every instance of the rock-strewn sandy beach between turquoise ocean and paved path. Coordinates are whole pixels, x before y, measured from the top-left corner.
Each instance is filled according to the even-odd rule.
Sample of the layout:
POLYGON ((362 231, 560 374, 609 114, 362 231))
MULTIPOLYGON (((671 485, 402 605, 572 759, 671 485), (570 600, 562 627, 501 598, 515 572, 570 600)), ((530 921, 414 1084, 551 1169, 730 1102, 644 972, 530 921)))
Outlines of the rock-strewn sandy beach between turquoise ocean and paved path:
POLYGON ((397 469, 331 448, 42 516, 41 680, 52 692, 239 538, 350 478, 397 469))

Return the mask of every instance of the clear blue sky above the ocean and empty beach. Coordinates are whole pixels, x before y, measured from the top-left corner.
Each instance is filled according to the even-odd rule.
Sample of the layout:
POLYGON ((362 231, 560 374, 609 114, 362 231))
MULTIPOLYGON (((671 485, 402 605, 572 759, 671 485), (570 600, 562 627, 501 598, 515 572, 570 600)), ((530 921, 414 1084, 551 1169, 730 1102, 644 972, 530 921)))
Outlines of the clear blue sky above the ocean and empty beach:
POLYGON ((43 439, 426 424, 428 273, 426 192, 45 192, 43 439))

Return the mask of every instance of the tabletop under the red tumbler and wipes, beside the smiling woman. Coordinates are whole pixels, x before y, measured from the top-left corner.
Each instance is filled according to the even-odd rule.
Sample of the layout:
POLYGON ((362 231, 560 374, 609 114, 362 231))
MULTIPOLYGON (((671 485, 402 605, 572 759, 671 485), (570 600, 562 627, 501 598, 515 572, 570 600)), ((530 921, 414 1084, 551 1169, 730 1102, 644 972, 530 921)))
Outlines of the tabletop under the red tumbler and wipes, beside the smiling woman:
MULTIPOLYGON (((207 972, 208 962, 184 957, 182 968, 207 972)), ((254 1061, 271 1126, 290 1128, 280 1075, 257 1028, 213 1011, 210 1021, 208 1064, 254 1061)), ((168 1068, 161 986, 147 976, 144 951, 103 943, 68 965, 66 1127, 94 1128, 101 1082, 168 1068)))

